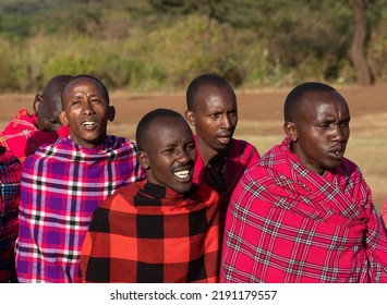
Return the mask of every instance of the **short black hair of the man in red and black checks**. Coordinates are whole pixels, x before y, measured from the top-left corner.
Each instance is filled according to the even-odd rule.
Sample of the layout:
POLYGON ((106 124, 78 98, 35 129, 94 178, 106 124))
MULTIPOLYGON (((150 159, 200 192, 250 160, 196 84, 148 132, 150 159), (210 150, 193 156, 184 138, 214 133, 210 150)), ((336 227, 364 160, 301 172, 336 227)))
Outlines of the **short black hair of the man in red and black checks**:
POLYGON ((166 109, 166 108, 157 108, 155 110, 152 110, 150 112, 146 113, 137 124, 135 137, 136 137, 138 151, 146 151, 146 137, 147 137, 146 133, 149 130, 150 124, 156 119, 160 119, 160 118, 174 118, 174 119, 182 120, 184 123, 186 123, 183 115, 181 115, 179 112, 174 110, 166 109))

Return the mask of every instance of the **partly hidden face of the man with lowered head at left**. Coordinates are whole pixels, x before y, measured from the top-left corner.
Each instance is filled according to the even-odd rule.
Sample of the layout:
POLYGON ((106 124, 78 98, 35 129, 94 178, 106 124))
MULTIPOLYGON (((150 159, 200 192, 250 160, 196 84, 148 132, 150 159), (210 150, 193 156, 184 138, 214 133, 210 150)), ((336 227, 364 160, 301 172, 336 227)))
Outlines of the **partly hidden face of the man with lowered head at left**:
POLYGON ((59 113, 62 109, 60 93, 46 97, 37 94, 34 101, 38 105, 36 109, 36 121, 39 131, 56 132, 60 129, 59 113))

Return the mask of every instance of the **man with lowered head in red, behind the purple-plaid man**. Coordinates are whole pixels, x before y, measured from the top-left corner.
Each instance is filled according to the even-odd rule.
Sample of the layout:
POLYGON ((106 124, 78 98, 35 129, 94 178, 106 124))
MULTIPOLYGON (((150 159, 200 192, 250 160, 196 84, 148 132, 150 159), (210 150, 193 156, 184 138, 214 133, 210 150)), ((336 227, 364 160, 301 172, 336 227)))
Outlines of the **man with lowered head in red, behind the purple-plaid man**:
POLYGON ((35 96, 34 114, 26 109, 20 110, 0 133, 0 145, 12 150, 22 164, 40 145, 69 136, 69 129, 61 127, 59 112, 62 109, 60 95, 70 78, 70 75, 52 77, 43 93, 35 96))

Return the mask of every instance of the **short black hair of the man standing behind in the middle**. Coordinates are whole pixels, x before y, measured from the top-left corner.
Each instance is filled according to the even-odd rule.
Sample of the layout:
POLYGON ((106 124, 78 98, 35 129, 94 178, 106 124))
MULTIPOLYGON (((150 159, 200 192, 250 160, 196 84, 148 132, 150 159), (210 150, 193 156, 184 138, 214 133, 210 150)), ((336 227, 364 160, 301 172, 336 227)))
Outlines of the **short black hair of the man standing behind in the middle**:
POLYGON ((231 85, 221 76, 217 74, 202 74, 195 77, 186 89, 186 108, 190 111, 195 110, 195 98, 198 93, 198 89, 204 85, 211 85, 216 87, 227 86, 230 90, 230 94, 237 100, 237 96, 231 85))

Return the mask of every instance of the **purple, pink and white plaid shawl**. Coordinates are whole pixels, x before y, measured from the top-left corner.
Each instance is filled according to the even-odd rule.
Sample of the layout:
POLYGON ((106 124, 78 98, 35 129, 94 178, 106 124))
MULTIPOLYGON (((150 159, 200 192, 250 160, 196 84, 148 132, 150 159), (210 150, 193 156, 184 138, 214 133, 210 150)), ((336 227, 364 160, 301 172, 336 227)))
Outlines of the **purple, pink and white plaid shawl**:
POLYGON ((76 282, 90 216, 120 186, 144 179, 133 143, 96 148, 70 138, 40 147, 22 173, 16 269, 21 282, 76 282))

